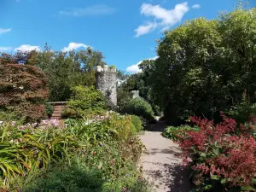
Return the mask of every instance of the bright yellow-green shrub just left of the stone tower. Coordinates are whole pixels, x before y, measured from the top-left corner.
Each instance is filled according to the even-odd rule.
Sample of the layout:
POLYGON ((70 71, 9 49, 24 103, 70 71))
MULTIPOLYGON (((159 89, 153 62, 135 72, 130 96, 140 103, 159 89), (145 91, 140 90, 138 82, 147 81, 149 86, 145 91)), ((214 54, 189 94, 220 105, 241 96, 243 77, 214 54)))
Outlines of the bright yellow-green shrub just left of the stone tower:
POLYGON ((72 99, 62 112, 65 118, 90 118, 102 115, 108 108, 105 97, 100 90, 94 87, 76 86, 73 89, 72 99))

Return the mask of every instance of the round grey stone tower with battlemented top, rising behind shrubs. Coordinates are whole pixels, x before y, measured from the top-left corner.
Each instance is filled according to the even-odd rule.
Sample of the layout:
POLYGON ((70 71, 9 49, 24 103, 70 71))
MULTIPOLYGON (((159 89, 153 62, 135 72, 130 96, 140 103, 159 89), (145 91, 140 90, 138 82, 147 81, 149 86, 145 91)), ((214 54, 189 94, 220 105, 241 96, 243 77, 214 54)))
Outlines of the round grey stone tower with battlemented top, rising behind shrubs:
POLYGON ((108 67, 108 65, 96 67, 96 89, 101 90, 103 95, 107 97, 111 108, 117 107, 115 67, 108 67))

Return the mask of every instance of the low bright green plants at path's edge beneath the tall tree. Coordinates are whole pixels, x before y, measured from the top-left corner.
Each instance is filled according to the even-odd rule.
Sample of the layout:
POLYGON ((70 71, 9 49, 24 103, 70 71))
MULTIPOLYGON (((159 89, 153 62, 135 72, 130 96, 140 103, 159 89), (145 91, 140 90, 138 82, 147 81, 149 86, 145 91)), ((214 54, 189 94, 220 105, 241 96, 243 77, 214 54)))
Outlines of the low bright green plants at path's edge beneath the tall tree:
POLYGON ((168 126, 162 135, 166 138, 170 138, 173 141, 177 141, 179 137, 184 136, 184 131, 199 131, 198 127, 191 127, 189 125, 182 126, 168 126))

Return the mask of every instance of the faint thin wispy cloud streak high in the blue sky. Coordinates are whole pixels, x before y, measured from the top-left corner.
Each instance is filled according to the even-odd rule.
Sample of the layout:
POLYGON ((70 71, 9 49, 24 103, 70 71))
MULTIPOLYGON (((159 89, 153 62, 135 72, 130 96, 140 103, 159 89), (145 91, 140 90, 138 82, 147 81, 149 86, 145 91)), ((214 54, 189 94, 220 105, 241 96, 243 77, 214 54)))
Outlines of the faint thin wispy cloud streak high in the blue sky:
POLYGON ((68 15, 68 16, 85 16, 85 15, 108 15, 112 14, 115 9, 108 7, 108 5, 101 4, 84 9, 69 9, 59 11, 59 15, 68 15))

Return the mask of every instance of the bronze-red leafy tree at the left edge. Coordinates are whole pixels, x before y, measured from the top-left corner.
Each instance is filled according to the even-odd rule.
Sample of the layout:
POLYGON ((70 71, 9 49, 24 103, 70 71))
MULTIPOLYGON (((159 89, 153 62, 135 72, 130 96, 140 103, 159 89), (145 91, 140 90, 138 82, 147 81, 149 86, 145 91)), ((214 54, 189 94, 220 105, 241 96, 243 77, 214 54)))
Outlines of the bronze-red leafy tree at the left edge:
POLYGON ((0 108, 10 110, 27 120, 45 117, 44 102, 49 96, 47 79, 40 68, 0 65, 0 108))

